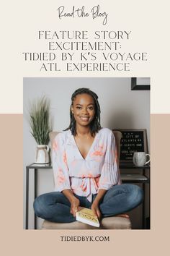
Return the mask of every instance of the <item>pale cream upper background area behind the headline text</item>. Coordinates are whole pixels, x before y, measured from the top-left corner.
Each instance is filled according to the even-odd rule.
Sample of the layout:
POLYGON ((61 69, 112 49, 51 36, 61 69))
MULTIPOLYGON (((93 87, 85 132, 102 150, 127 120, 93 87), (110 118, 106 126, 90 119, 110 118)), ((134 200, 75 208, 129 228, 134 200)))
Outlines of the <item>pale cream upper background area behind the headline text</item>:
MULTIPOLYGON (((3 1, 1 8, 0 113, 22 113, 22 77, 151 77, 151 113, 170 113, 169 101, 169 1, 30 0, 3 1), (107 26, 99 20, 65 18, 57 9, 100 4, 108 12, 107 26), (46 51, 38 30, 131 30, 131 39, 122 42, 122 51, 148 52, 148 61, 133 64, 131 72, 40 72, 40 64, 24 62, 22 52, 46 51)), ((99 59, 100 61, 100 59, 99 59)))

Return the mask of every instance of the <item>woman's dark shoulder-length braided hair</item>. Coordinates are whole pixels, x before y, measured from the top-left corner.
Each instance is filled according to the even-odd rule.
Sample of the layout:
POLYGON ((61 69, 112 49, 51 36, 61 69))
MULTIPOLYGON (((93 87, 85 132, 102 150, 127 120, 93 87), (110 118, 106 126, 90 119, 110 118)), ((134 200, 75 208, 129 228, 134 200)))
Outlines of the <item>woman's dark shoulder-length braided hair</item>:
MULTIPOLYGON (((90 123, 91 136, 94 136, 99 131, 99 129, 101 128, 101 125, 100 125, 100 106, 99 106, 97 94, 92 92, 88 88, 79 88, 79 89, 75 90, 75 92, 71 96, 71 106, 73 106, 73 101, 76 98, 76 95, 84 94, 84 93, 91 95, 91 97, 94 99, 95 114, 94 114, 94 119, 90 123)), ((71 134, 76 136, 76 120, 74 119, 71 108, 70 108, 70 125, 66 130, 68 130, 68 129, 71 129, 71 134)))

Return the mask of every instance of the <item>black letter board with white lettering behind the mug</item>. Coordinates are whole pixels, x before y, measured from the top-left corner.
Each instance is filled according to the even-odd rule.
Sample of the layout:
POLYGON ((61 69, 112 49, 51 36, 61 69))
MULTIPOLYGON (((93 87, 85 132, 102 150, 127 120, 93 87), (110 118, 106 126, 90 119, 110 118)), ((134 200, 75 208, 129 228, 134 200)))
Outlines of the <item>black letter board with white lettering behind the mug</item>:
POLYGON ((148 153, 146 129, 114 129, 122 133, 120 163, 133 163, 134 152, 148 153))

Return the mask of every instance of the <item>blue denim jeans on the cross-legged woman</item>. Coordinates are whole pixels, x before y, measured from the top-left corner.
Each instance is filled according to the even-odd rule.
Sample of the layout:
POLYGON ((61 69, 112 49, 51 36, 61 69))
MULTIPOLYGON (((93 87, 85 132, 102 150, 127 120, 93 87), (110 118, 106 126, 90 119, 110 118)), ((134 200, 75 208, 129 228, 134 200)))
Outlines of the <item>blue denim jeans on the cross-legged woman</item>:
MULTIPOLYGON (((91 203, 96 195, 93 195, 92 202, 86 197, 75 195, 80 200, 80 206, 91 208, 91 203)), ((119 213, 126 213, 136 208, 143 201, 143 190, 134 184, 115 185, 109 189, 99 204, 102 217, 115 216, 119 213)), ((35 199, 35 214, 48 221, 68 223, 76 221, 70 213, 71 203, 61 192, 50 192, 40 195, 35 199)))

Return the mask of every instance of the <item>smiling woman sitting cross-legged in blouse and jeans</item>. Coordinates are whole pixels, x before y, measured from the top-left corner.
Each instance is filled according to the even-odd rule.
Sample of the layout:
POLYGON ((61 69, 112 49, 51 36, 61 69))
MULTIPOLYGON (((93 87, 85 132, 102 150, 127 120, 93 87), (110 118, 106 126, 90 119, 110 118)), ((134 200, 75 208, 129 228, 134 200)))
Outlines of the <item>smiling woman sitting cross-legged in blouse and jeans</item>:
POLYGON ((76 221, 79 206, 91 208, 99 219, 128 218, 125 212, 140 205, 143 191, 121 184, 117 149, 111 130, 100 126, 97 94, 87 88, 71 97, 71 122, 53 144, 55 192, 35 199, 35 214, 48 221, 76 221))

